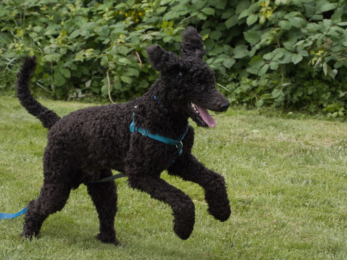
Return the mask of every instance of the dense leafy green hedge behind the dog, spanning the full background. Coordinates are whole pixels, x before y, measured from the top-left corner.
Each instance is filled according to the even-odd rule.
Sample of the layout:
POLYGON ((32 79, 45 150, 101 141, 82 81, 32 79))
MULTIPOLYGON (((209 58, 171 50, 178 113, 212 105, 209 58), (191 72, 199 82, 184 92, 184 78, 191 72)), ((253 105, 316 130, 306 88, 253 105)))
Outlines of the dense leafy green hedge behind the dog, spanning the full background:
POLYGON ((344 0, 3 0, 0 65, 14 79, 18 59, 35 54, 33 81, 57 97, 110 91, 129 99, 157 75, 145 47, 177 52, 180 32, 192 25, 232 102, 310 111, 338 104, 327 111, 341 116, 346 14, 344 0))

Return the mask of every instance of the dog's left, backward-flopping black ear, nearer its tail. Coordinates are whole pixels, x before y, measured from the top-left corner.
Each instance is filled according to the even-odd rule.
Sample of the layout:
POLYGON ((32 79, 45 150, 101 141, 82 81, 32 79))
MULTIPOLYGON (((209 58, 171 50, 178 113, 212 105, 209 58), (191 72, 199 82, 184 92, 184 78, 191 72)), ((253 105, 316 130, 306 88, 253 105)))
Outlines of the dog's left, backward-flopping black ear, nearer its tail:
POLYGON ((164 50, 159 45, 147 47, 148 61, 152 68, 158 71, 179 70, 179 59, 175 53, 164 50))

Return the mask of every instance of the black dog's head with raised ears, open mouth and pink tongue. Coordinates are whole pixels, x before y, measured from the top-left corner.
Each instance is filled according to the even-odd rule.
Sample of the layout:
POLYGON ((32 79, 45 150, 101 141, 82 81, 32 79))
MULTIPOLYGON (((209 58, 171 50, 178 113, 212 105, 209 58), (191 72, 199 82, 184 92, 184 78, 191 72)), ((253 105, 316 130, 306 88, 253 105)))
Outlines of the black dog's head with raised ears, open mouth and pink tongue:
POLYGON ((215 88, 214 72, 202 60, 204 43, 196 29, 187 27, 182 38, 180 59, 160 46, 147 48, 152 68, 161 71, 161 102, 189 116, 199 126, 214 127, 215 121, 207 109, 226 111, 228 99, 215 88))

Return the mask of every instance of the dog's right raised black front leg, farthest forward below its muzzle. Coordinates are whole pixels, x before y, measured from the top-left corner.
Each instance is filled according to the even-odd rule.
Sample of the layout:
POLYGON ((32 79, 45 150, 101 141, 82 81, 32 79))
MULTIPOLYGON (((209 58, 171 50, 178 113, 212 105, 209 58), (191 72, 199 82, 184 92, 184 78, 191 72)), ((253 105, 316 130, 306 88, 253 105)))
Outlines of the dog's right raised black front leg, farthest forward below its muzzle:
POLYGON ((231 210, 223 176, 206 168, 192 154, 180 156, 168 173, 199 184, 205 190, 209 214, 222 222, 229 218, 231 210))

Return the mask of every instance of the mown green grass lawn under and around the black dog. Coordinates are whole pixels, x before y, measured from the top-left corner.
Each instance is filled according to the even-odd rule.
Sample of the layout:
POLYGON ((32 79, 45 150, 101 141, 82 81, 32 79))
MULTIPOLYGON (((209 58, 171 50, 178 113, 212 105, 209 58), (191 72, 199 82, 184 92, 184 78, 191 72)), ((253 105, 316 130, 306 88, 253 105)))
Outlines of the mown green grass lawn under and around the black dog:
MULTIPOLYGON (((59 115, 91 105, 42 103, 59 115)), ((194 231, 180 240, 170 207, 122 178, 121 246, 94 239, 98 218, 81 185, 39 239, 19 237, 22 216, 0 220, 0 259, 346 259, 346 123, 295 117, 229 109, 215 116, 215 129, 195 128, 193 153, 228 183, 232 213, 224 223, 207 214, 197 184, 163 173, 195 203, 194 231)), ((0 212, 15 213, 38 196, 46 133, 17 99, 0 97, 0 212)))

